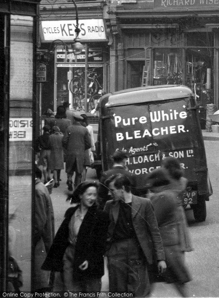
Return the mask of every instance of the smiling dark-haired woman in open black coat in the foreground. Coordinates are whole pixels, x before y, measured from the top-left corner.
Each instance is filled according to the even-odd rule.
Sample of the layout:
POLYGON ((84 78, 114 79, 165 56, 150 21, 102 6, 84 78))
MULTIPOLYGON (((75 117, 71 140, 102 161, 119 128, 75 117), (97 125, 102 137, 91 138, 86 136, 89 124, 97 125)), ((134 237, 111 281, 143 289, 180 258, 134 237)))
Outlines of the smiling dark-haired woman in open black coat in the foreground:
POLYGON ((108 216, 99 210, 95 182, 82 182, 74 190, 71 203, 42 266, 63 273, 64 290, 100 292, 104 275, 108 216))

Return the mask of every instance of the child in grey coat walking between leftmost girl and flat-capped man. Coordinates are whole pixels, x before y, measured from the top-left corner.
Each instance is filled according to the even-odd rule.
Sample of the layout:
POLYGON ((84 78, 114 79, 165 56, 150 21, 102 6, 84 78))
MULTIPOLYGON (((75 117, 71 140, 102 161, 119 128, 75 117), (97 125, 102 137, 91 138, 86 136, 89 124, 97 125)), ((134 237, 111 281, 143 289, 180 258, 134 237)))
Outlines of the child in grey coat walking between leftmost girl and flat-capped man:
POLYGON ((49 170, 53 171, 54 186, 60 186, 61 170, 64 169, 64 157, 63 157, 63 134, 60 132, 58 126, 52 128, 52 135, 49 137, 49 148, 51 149, 49 158, 49 170))

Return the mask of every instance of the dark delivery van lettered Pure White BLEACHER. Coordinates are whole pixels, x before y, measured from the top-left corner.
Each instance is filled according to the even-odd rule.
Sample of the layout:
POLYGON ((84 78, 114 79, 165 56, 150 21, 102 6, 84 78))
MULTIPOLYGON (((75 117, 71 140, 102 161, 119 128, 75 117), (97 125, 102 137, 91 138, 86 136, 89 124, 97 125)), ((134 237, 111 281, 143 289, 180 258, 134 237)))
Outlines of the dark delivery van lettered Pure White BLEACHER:
POLYGON ((147 86, 104 95, 100 100, 95 166, 108 170, 115 150, 128 154, 129 171, 137 175, 142 195, 146 175, 167 156, 177 158, 188 179, 184 204, 196 221, 206 219, 212 194, 206 153, 192 90, 183 85, 147 86))

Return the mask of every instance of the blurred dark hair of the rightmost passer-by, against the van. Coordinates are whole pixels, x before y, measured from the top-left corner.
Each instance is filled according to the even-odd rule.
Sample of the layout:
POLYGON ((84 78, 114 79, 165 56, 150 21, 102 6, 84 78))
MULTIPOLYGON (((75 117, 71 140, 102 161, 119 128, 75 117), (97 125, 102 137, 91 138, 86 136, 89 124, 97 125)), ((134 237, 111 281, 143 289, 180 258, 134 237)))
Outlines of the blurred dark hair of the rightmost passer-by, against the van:
POLYGON ((183 176, 183 169, 175 157, 166 157, 161 162, 161 167, 167 169, 171 178, 179 180, 183 176))

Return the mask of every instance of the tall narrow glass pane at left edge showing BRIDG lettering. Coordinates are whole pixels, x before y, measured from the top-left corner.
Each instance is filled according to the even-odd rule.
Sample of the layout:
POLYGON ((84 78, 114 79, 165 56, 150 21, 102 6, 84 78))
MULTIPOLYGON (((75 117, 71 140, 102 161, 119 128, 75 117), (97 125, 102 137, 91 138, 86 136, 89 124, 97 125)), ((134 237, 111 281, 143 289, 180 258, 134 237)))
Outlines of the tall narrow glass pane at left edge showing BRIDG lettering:
POLYGON ((10 32, 8 249, 22 271, 20 290, 30 291, 33 18, 11 15, 10 32))

